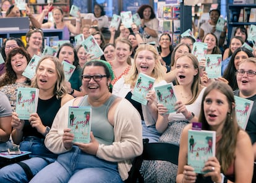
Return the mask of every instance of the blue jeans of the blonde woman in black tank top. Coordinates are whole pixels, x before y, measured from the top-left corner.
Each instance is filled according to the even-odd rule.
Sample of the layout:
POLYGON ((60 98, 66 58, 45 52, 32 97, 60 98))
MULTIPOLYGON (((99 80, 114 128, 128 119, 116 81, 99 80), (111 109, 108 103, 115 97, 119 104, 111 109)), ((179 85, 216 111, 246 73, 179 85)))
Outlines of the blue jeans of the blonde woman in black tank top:
MULTIPOLYGON (((49 163, 56 160, 54 158, 56 155, 46 149, 43 139, 40 138, 25 138, 20 143, 20 150, 32 151, 32 158, 22 162, 29 166, 34 176, 49 163)), ((14 163, 0 169, 0 182, 28 182, 28 179, 22 167, 14 163)))

